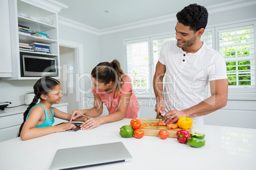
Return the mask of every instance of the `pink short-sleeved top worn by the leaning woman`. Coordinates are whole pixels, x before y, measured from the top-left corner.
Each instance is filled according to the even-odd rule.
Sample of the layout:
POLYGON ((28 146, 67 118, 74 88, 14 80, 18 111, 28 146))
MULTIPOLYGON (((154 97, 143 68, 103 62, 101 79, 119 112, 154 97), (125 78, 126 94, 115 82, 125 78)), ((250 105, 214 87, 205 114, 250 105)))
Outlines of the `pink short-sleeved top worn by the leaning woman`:
POLYGON ((109 114, 117 112, 120 96, 125 95, 129 91, 131 91, 131 98, 125 118, 136 119, 139 112, 139 101, 132 91, 131 79, 128 75, 124 77, 124 84, 122 85, 118 96, 115 96, 115 90, 111 93, 106 93, 104 90, 101 91, 92 85, 92 93, 101 98, 101 101, 103 101, 104 105, 108 108, 109 114))

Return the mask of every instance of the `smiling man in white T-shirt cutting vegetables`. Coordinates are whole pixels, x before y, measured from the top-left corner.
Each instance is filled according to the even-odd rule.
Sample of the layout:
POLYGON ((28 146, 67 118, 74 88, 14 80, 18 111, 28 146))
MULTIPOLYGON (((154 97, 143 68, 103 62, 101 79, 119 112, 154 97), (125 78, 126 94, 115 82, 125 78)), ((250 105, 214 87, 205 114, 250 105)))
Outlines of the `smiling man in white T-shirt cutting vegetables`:
POLYGON ((225 61, 200 39, 208 21, 206 8, 190 4, 176 17, 176 40, 162 46, 153 77, 155 111, 157 116, 164 115, 165 124, 177 122, 180 117, 203 124, 203 115, 227 104, 225 61), (206 98, 208 82, 211 96, 206 98))

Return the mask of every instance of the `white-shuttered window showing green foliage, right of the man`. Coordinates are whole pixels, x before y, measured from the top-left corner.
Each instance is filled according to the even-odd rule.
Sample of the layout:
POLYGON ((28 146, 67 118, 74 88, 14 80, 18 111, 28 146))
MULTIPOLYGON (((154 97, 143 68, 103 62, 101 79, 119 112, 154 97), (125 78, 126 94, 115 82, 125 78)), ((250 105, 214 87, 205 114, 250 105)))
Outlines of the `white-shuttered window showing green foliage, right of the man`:
POLYGON ((218 51, 227 65, 229 86, 255 86, 255 53, 253 23, 217 28, 218 51))

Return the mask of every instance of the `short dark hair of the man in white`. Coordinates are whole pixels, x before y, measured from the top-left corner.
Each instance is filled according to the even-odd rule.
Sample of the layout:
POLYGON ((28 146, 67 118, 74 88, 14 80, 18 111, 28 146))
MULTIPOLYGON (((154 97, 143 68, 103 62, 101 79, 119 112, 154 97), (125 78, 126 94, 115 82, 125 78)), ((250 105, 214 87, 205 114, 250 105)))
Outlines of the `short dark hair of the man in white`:
POLYGON ((208 22, 208 11, 199 4, 190 4, 176 14, 178 22, 189 26, 190 30, 197 30, 206 27, 208 22))

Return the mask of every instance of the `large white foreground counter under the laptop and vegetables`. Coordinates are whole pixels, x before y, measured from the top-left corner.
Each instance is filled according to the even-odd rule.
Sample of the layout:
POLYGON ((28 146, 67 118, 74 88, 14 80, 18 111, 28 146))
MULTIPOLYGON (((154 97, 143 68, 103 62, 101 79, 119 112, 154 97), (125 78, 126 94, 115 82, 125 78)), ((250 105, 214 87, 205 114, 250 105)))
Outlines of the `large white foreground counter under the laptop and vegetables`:
POLYGON ((124 143, 132 160, 90 169, 255 169, 256 129, 194 124, 192 131, 206 134, 206 145, 192 148, 178 143, 176 138, 122 138, 120 128, 130 121, 123 119, 89 131, 66 131, 27 141, 20 138, 3 141, 0 169, 45 170, 49 169, 57 149, 117 141, 124 143))

